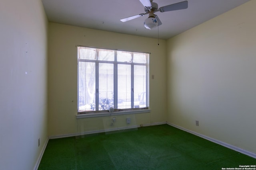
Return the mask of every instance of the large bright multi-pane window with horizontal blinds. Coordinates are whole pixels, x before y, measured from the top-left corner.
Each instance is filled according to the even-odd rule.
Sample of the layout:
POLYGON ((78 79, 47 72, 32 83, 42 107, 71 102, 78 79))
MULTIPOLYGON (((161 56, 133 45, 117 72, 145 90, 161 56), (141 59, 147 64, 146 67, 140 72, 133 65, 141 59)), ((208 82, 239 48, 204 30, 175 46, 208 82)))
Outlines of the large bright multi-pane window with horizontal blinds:
POLYGON ((148 53, 78 46, 78 114, 148 108, 148 53))

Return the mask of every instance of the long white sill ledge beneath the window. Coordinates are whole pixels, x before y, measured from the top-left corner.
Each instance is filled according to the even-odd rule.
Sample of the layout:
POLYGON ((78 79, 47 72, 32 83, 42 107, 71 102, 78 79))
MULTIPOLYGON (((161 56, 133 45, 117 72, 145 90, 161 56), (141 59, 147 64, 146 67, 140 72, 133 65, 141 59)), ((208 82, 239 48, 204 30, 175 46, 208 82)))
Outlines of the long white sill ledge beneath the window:
POLYGON ((130 110, 130 111, 115 111, 115 112, 104 112, 104 113, 88 113, 76 115, 76 119, 88 118, 88 117, 104 117, 112 115, 129 115, 129 114, 138 114, 138 113, 150 113, 150 109, 141 109, 141 110, 130 110))

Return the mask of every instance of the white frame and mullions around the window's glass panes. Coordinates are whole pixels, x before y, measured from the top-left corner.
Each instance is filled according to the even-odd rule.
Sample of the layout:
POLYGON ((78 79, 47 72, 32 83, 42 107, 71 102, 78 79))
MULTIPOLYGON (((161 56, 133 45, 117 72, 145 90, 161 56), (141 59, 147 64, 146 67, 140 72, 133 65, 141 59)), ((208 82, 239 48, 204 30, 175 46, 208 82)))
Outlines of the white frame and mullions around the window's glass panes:
MULTIPOLYGON (((87 46, 81 46, 78 45, 77 46, 77 51, 78 51, 78 47, 87 47, 87 46)), ((87 48, 93 48, 93 49, 104 49, 104 48, 98 48, 98 47, 87 47, 87 48)), ((104 49, 106 50, 106 49, 104 49)), ((99 116, 108 116, 111 114, 115 114, 115 115, 122 115, 122 114, 134 114, 134 113, 146 113, 146 112, 150 112, 149 109, 149 54, 150 53, 146 53, 148 54, 147 57, 147 62, 146 64, 142 64, 142 63, 127 63, 127 62, 120 62, 117 61, 117 51, 124 51, 124 50, 116 50, 116 49, 107 49, 107 50, 112 50, 114 51, 114 61, 99 61, 96 60, 95 62, 92 62, 90 60, 86 60, 86 59, 79 59, 77 57, 77 82, 79 82, 79 62, 92 62, 92 63, 113 63, 114 64, 114 112, 113 113, 109 113, 108 110, 101 110, 101 111, 79 111, 79 83, 77 84, 77 98, 78 98, 78 102, 77 102, 77 111, 78 114, 76 115, 77 118, 85 118, 85 117, 99 117, 99 116), (134 93, 133 93, 133 89, 134 89, 134 82, 133 82, 133 78, 134 78, 134 72, 133 72, 133 68, 134 65, 145 65, 146 66, 146 107, 142 107, 142 108, 129 108, 129 109, 118 109, 117 108, 117 104, 118 104, 118 80, 117 80, 117 74, 118 74, 118 70, 117 70, 117 66, 118 64, 128 64, 131 65, 131 107, 134 107, 134 93)), ((133 53, 145 53, 145 52, 136 52, 136 51, 125 51, 128 53, 131 53, 133 55, 133 53)), ((78 56, 78 54, 77 54, 78 56)), ((98 81, 97 81, 97 66, 96 66, 96 89, 97 90, 98 86, 98 81)), ((97 107, 97 102, 98 102, 99 98, 97 96, 96 93, 96 107, 97 107)))

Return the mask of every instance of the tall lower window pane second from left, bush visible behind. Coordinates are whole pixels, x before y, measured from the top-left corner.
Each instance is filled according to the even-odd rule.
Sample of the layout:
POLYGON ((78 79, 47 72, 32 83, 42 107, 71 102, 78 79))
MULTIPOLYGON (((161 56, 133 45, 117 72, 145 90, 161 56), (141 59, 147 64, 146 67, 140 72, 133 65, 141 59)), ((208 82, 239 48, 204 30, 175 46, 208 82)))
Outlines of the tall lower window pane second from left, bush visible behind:
POLYGON ((114 64, 99 63, 99 110, 114 107, 114 64))

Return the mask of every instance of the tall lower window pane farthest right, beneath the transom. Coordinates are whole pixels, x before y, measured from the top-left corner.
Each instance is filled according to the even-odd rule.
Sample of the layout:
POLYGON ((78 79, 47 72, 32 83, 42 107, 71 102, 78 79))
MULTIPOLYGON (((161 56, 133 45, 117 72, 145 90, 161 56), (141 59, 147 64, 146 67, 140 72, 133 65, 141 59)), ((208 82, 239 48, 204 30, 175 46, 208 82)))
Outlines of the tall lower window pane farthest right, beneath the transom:
POLYGON ((134 65, 134 108, 146 107, 146 66, 134 65))

